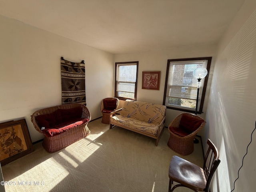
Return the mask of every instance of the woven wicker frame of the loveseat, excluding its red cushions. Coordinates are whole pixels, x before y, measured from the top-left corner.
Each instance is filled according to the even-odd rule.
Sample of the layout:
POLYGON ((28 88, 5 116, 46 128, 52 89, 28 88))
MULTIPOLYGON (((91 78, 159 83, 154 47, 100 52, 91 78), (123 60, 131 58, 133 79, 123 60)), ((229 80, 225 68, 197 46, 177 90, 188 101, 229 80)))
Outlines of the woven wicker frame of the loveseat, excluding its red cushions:
POLYGON ((39 126, 36 116, 39 115, 47 115, 51 114, 53 112, 56 112, 58 109, 62 110, 69 110, 72 108, 82 108, 82 116, 81 118, 88 119, 88 122, 91 120, 91 114, 88 110, 88 108, 83 104, 64 104, 59 106, 53 106, 48 108, 43 108, 40 110, 37 110, 31 115, 31 122, 34 125, 34 128, 40 132, 41 134, 44 134, 44 141, 42 143, 43 147, 46 149, 46 151, 53 153, 58 150, 61 150, 65 148, 66 146, 69 146, 70 144, 88 136, 90 134, 90 130, 88 128, 88 122, 85 124, 81 124, 77 127, 71 128, 70 130, 66 130, 65 132, 62 132, 61 134, 57 134, 55 136, 48 136, 46 132, 41 130, 41 127, 39 126))

